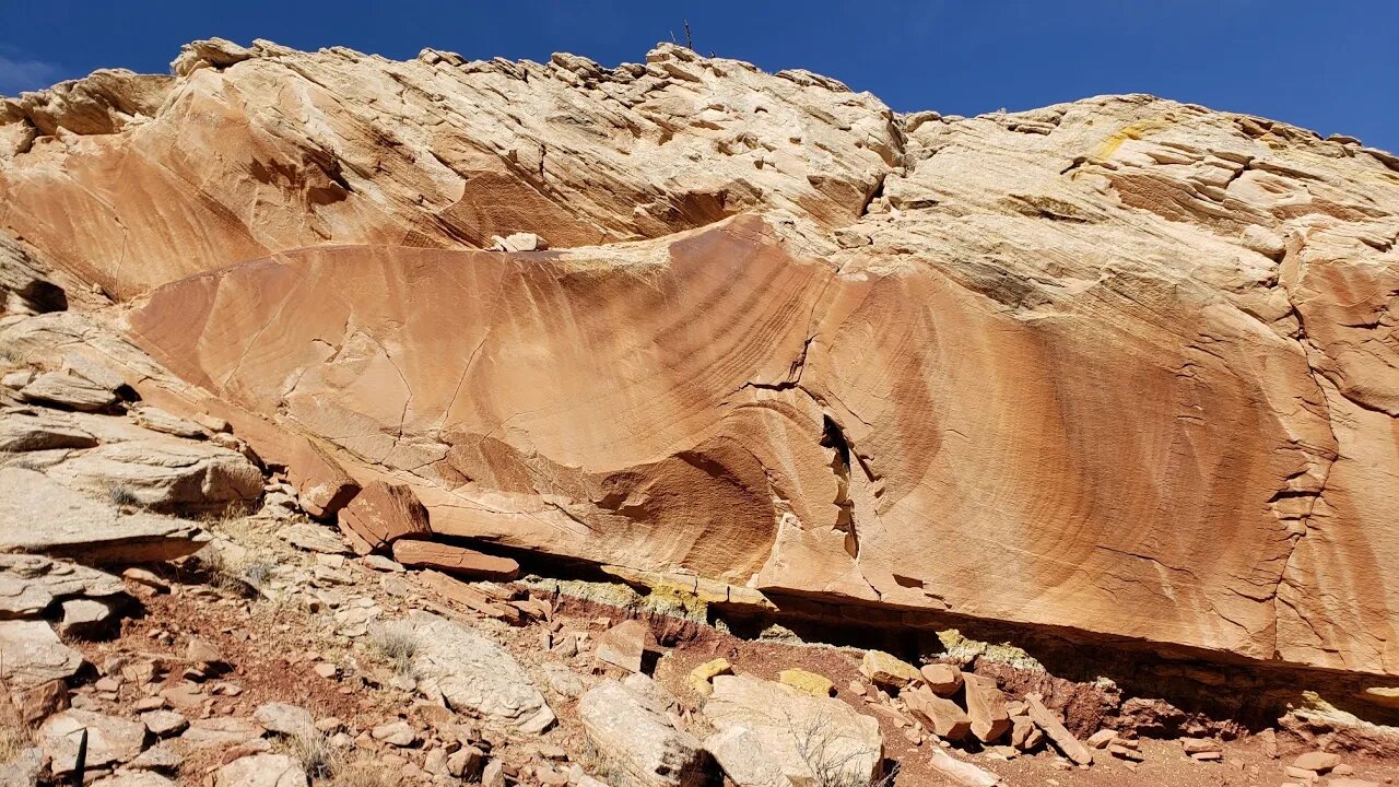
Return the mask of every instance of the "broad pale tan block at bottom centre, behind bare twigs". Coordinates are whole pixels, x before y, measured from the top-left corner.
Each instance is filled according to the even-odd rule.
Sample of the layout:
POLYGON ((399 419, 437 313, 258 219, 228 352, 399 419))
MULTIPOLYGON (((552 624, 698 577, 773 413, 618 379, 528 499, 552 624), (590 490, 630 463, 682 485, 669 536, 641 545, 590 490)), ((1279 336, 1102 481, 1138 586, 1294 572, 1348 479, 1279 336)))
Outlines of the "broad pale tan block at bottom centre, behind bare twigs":
POLYGON ((704 713, 705 748, 740 787, 821 783, 867 787, 883 770, 879 721, 834 697, 750 675, 720 675, 704 713))

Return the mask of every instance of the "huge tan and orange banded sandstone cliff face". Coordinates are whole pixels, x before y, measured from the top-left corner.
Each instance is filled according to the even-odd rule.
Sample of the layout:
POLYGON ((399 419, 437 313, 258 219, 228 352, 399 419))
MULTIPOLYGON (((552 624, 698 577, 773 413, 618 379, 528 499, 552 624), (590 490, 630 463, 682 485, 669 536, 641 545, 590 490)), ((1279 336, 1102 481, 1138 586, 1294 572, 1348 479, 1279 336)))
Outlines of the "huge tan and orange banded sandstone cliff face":
POLYGON ((229 52, 109 132, 15 109, 0 203, 264 458, 914 625, 1399 674, 1399 158, 1149 97, 895 116, 676 48, 229 52), (512 232, 550 251, 463 251, 512 232))

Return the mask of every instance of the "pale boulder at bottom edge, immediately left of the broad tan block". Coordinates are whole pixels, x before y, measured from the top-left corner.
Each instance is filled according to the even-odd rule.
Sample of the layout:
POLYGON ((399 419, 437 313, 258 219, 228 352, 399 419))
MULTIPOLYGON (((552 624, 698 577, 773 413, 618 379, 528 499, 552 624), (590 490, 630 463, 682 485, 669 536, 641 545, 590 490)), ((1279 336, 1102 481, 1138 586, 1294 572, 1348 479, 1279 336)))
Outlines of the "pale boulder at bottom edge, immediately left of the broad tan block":
MULTIPOLYGON (((634 675, 649 681, 645 675, 634 675)), ((709 783, 700 741, 676 730, 665 707, 641 686, 606 681, 578 700, 583 734, 613 781, 637 787, 701 787, 709 783)))

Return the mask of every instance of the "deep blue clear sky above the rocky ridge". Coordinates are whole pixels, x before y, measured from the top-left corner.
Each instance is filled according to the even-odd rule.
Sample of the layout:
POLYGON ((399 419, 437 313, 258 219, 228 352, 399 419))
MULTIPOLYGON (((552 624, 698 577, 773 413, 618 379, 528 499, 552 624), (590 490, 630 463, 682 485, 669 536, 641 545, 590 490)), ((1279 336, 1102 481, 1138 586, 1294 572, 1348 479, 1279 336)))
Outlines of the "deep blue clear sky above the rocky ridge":
POLYGON ((98 67, 166 71, 220 35, 402 59, 575 52, 637 62, 688 18, 695 49, 804 67, 900 111, 975 115, 1151 92, 1399 150, 1399 3, 1389 0, 4 0, 0 95, 98 67))

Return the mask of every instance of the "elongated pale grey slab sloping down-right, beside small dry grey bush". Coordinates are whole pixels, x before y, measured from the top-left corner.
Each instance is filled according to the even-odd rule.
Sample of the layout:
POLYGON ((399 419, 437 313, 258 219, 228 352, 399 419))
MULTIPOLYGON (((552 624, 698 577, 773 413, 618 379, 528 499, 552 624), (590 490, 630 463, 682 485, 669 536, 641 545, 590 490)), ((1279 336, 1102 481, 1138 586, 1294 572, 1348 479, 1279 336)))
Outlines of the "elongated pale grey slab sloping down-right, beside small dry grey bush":
POLYGON ((409 620, 417 643, 413 674, 420 692, 522 732, 541 732, 554 724, 554 711, 509 651, 436 615, 414 612, 409 620))

